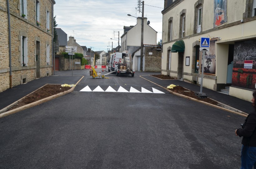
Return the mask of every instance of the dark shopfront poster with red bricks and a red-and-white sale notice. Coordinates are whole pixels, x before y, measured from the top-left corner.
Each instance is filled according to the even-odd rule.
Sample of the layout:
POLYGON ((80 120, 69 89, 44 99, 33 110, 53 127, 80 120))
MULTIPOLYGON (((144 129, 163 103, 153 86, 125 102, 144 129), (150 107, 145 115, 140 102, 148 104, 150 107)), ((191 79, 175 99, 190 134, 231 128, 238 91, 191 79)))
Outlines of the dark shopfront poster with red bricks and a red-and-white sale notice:
POLYGON ((255 90, 256 40, 235 42, 232 86, 255 90))

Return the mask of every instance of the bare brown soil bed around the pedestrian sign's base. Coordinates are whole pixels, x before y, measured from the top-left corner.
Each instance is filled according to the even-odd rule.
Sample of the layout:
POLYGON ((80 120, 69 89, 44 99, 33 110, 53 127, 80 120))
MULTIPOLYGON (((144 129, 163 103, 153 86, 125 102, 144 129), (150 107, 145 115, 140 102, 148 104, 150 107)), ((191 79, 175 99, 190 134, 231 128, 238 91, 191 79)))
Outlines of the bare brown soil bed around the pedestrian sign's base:
POLYGON ((181 87, 181 86, 176 86, 176 87, 173 87, 173 89, 169 89, 169 90, 172 91, 172 92, 175 92, 175 93, 179 93, 179 94, 182 94, 182 95, 185 95, 185 96, 192 97, 192 98, 200 100, 200 101, 210 103, 212 105, 220 106, 217 101, 214 101, 210 98, 200 99, 198 96, 195 95, 195 93, 193 91, 185 89, 184 87, 181 87))

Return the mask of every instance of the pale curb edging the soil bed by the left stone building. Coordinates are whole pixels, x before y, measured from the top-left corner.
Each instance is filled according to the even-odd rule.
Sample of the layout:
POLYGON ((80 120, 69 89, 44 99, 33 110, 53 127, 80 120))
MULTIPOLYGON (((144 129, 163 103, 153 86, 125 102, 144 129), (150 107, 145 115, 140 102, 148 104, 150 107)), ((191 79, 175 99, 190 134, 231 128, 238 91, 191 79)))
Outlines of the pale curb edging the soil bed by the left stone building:
MULTIPOLYGON (((84 77, 84 76, 82 76, 82 77, 79 79, 79 81, 76 82, 75 85, 77 85, 77 84, 82 80, 83 77, 84 77)), ((45 85, 47 85, 47 84, 45 84, 45 85)), ((45 86, 45 85, 44 85, 44 86, 45 86)), ((42 87, 44 87, 44 86, 42 86, 42 87)), ((40 88, 42 88, 42 87, 40 87, 40 88)), ((38 88, 37 90, 39 90, 40 88, 38 88)), ((61 93, 58 93, 58 94, 56 94, 56 95, 52 95, 52 96, 46 97, 46 98, 44 98, 44 99, 35 101, 35 102, 33 102, 33 103, 30 103, 30 104, 27 104, 27 105, 18 107, 18 108, 16 108, 16 109, 13 109, 13 110, 10 110, 10 111, 1 113, 1 111, 7 110, 10 106, 15 105, 18 101, 20 101, 20 100, 22 100, 24 97, 26 97, 26 96, 24 96, 24 97, 22 97, 21 99, 19 99, 18 101, 15 101, 15 102, 12 103, 11 105, 9 105, 9 106, 3 108, 2 110, 0 110, 0 113, 1 113, 1 114, 0 114, 0 118, 5 117, 5 116, 7 116, 7 115, 11 115, 11 114, 17 113, 17 112, 19 112, 19 111, 21 111, 21 110, 25 110, 25 109, 31 108, 31 107, 33 107, 33 106, 40 105, 40 104, 42 104, 42 103, 44 103, 44 102, 50 101, 50 100, 55 99, 55 98, 57 98, 57 97, 63 96, 63 95, 65 95, 65 94, 67 94, 67 93, 73 92, 74 89, 75 89, 75 86, 71 87, 71 89, 69 89, 69 90, 67 90, 67 91, 65 91, 65 92, 61 92, 61 93)), ((35 91, 37 91, 37 90, 35 90, 35 91)), ((35 91, 33 91, 33 92, 35 92, 35 91)), ((31 93, 33 93, 33 92, 31 92, 31 93)), ((29 93, 28 95, 30 95, 31 93, 29 93)), ((27 96, 28 96, 28 95, 27 95, 27 96)))

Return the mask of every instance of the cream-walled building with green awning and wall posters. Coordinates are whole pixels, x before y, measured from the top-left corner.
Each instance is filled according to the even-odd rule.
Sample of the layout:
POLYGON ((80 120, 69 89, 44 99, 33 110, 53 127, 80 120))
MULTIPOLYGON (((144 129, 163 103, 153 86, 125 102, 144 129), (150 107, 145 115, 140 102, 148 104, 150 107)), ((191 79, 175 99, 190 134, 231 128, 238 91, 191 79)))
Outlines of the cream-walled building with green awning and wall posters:
POLYGON ((203 87, 251 100, 256 87, 256 0, 165 0, 162 14, 162 74, 201 84, 202 66, 203 87), (210 38, 204 56, 200 37, 210 38))

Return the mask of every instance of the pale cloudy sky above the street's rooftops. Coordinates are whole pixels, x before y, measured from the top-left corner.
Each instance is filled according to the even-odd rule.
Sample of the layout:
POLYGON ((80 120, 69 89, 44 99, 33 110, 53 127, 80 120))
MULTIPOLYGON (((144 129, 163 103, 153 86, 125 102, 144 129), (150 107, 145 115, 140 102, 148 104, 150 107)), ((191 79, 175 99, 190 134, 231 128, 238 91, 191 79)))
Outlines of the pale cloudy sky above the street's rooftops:
MULTIPOLYGON (((107 46, 112 46, 112 42, 113 48, 117 47, 118 31, 121 37, 124 26, 136 25, 136 18, 132 16, 142 16, 138 11, 138 0, 55 0, 55 2, 54 16, 56 16, 57 28, 66 32, 68 37, 74 36, 79 45, 92 47, 94 51, 107 51, 111 48, 107 46)), ((147 17, 150 26, 158 32, 157 42, 162 39, 163 7, 164 0, 144 0, 144 17, 147 17)), ((121 38, 119 41, 121 45, 121 38)))

